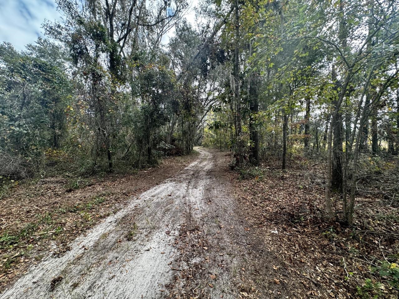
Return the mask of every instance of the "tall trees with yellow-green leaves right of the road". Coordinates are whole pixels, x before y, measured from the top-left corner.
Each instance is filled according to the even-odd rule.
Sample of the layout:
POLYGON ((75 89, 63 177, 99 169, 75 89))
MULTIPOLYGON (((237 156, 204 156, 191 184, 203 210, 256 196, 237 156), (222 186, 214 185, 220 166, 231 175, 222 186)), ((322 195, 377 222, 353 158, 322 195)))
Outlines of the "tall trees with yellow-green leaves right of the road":
POLYGON ((234 148, 238 165, 323 158, 328 217, 337 191, 352 223, 360 164, 395 159, 398 148, 397 18, 395 2, 236 3, 221 40, 240 53, 203 142, 234 148))

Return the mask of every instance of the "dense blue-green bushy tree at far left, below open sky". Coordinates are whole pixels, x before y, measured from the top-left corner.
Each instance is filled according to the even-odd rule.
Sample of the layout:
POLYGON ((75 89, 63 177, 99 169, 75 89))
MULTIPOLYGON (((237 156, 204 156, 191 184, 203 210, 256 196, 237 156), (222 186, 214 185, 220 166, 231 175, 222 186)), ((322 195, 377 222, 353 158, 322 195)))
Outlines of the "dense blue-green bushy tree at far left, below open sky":
POLYGON ((44 148, 60 145, 70 91, 62 67, 53 63, 59 48, 39 39, 28 49, 18 52, 9 43, 0 45, 0 169, 14 177, 40 167, 44 148))

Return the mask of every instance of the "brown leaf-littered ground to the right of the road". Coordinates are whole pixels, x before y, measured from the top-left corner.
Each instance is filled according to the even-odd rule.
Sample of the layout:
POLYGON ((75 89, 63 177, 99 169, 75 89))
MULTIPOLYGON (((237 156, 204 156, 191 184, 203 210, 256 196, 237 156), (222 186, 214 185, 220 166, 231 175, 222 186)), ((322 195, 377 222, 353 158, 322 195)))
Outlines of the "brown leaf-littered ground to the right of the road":
MULTIPOLYGON (((271 159, 231 173, 231 180, 253 234, 284 268, 276 283, 291 292, 288 298, 397 299, 399 205, 377 195, 378 178, 389 176, 358 182, 359 191, 371 192, 356 198, 348 227, 326 221, 324 163, 300 157, 286 171, 280 163, 271 159)), ((335 196, 338 217, 340 203, 335 196)))

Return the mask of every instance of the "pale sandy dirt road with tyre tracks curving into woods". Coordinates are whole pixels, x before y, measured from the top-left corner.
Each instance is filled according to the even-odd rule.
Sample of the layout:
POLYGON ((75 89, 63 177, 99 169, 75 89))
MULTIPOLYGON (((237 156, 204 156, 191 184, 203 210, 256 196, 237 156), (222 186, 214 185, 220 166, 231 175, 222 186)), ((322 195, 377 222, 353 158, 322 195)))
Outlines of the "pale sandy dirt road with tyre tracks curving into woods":
POLYGON ((62 256, 43 259, 0 298, 263 298, 261 289, 280 294, 265 278, 271 257, 236 213, 221 154, 197 150, 194 163, 130 199, 62 256))

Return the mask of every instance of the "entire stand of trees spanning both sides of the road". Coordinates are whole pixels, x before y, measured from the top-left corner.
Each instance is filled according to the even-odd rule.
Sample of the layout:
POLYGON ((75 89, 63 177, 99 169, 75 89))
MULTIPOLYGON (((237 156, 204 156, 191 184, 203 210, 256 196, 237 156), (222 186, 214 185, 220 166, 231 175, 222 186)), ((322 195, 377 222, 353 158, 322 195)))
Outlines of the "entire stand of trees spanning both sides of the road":
POLYGON ((354 224, 360 196, 397 207, 398 1, 56 2, 45 38, 0 45, 4 186, 132 173, 201 145, 256 179, 322 169, 328 223, 354 224))

